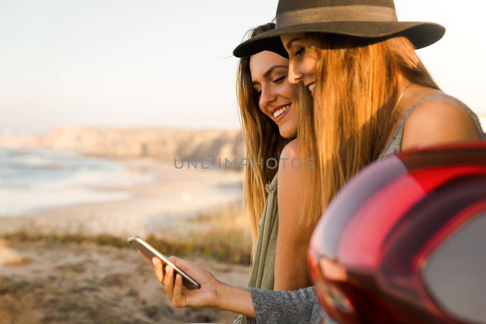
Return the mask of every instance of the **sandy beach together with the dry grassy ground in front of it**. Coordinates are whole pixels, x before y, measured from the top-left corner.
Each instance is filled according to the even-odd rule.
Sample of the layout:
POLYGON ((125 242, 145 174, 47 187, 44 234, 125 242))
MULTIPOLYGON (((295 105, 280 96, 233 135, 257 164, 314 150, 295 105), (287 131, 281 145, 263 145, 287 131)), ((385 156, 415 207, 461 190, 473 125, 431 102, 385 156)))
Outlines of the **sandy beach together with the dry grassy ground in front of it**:
POLYGON ((237 316, 229 312, 174 308, 151 266, 123 244, 134 235, 159 239, 164 253, 245 287, 250 245, 242 173, 177 170, 150 158, 110 162, 127 174, 2 189, 11 196, 2 195, 0 205, 24 211, 0 217, 0 324, 232 323, 237 316), (114 198, 83 201, 76 192, 114 198), (57 205, 49 206, 50 197, 57 205))

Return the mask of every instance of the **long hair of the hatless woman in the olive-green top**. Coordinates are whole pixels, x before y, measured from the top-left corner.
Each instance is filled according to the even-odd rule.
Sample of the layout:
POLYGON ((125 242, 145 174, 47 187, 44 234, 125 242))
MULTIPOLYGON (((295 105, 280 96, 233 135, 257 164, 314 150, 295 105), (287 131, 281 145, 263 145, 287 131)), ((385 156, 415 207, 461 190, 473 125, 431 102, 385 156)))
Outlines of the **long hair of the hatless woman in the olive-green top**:
MULTIPOLYGON (((254 37, 274 28, 275 24, 268 23, 250 30, 247 34, 254 37)), ((254 250, 258 239, 261 214, 268 197, 265 184, 271 181, 278 171, 278 168, 268 168, 266 161, 270 158, 278 161, 283 148, 292 138, 280 136, 278 125, 260 111, 259 98, 251 82, 250 58, 243 57, 238 64, 236 92, 245 144, 245 157, 250 164, 263 159, 261 168, 252 165, 244 168, 243 205, 245 214, 250 219, 254 250)), ((297 85, 299 107, 305 105, 301 99, 309 98, 308 92, 303 85, 297 85)), ((312 102, 308 104, 312 104, 312 102)), ((273 166, 273 163, 269 164, 273 166)))

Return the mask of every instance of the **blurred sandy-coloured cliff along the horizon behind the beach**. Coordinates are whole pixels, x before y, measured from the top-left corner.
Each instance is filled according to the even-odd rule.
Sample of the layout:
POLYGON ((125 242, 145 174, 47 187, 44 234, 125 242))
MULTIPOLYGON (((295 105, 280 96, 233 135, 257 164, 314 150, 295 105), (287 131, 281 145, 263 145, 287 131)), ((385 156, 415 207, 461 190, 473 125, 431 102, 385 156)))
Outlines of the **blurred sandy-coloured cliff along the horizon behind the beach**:
POLYGON ((224 161, 243 157, 239 130, 104 128, 60 126, 44 136, 0 135, 0 146, 43 147, 103 157, 151 157, 158 160, 224 161))

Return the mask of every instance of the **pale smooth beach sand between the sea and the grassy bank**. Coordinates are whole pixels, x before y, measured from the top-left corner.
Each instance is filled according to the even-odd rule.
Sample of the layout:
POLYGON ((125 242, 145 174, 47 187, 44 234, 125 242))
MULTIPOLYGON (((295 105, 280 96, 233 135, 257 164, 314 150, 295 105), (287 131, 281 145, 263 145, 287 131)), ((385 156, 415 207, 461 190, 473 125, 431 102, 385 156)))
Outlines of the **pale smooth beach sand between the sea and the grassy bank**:
MULTIPOLYGON (((174 168, 173 163, 150 159, 117 160, 130 172, 153 175, 155 181, 100 190, 130 192, 133 197, 110 202, 67 205, 29 215, 0 218, 0 234, 24 230, 35 234, 109 234, 120 237, 156 234, 165 239, 197 233, 187 220, 202 211, 240 204, 243 173, 223 170, 174 168)), ((42 199, 42 197, 39 197, 42 199)))

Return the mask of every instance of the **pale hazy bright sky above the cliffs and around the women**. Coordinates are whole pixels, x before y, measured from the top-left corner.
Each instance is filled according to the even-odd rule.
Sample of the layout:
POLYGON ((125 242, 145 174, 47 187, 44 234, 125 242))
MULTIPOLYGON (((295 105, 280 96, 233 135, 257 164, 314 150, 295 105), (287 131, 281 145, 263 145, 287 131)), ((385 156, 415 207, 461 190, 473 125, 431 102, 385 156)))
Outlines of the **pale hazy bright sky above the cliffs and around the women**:
MULTIPOLYGON (((1 0, 0 132, 57 125, 240 127, 231 56, 278 0, 1 0)), ((447 31, 418 50, 438 85, 486 115, 478 0, 395 0, 447 31)))

